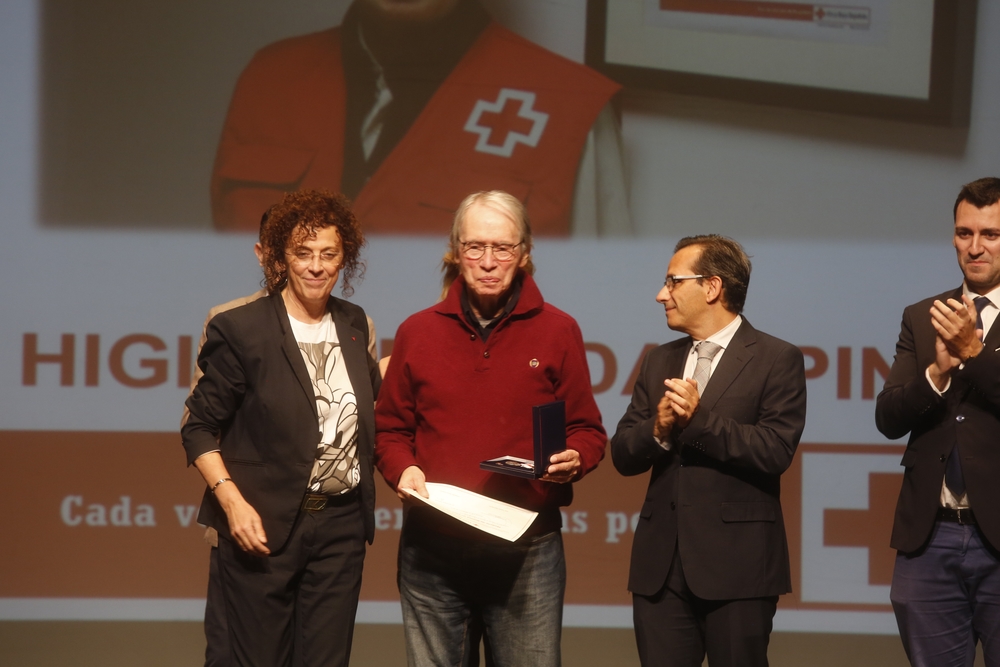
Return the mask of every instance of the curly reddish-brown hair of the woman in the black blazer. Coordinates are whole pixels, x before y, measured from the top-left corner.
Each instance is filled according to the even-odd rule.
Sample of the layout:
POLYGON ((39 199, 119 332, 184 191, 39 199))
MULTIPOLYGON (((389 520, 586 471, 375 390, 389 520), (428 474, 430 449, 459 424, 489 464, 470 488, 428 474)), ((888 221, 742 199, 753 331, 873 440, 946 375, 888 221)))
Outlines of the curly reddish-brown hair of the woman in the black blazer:
POLYGON ((285 248, 296 234, 312 237, 320 229, 334 227, 340 234, 344 262, 340 266, 341 292, 354 293, 351 281, 365 274, 361 248, 365 235, 361 223, 351 210, 351 203, 342 194, 329 190, 298 190, 269 208, 261 220, 260 245, 263 249, 264 280, 268 294, 274 294, 288 280, 288 259, 285 248))

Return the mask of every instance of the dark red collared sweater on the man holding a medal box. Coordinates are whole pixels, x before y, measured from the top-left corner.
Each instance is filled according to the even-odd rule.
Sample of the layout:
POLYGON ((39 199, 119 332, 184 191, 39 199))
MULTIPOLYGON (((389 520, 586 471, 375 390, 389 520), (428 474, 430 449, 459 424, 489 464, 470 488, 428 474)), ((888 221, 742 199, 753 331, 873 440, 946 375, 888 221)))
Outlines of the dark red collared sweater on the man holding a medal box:
POLYGON ((604 456, 580 327, 523 279, 517 305, 485 343, 461 314, 461 277, 444 301, 399 327, 375 413, 375 462, 390 486, 417 465, 428 482, 527 509, 568 505, 571 484, 479 468, 506 454, 531 459, 531 407, 556 400, 566 401, 566 446, 580 453, 583 474, 604 456))

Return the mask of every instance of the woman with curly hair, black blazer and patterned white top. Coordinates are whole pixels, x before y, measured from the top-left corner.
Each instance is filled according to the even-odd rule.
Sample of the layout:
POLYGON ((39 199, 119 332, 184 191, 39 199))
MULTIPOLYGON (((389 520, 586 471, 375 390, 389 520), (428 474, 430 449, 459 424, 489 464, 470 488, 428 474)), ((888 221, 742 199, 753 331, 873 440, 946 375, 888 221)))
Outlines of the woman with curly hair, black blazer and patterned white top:
POLYGON ((374 536, 374 401, 364 311, 331 296, 364 272, 343 195, 307 190, 261 229, 268 296, 220 313, 181 429, 219 531, 234 664, 348 664, 374 536))

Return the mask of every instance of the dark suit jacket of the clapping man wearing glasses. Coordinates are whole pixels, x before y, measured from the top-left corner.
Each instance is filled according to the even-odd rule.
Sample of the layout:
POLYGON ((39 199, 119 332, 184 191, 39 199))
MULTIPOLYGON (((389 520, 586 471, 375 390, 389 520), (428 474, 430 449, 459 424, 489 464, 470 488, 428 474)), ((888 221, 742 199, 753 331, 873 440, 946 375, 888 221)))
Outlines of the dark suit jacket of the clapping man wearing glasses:
POLYGON ((656 594, 676 545, 688 586, 700 598, 787 593, 780 475, 805 426, 802 353, 744 319, 694 418, 665 451, 653 439, 656 405, 663 380, 683 373, 691 344, 686 337, 646 355, 611 440, 623 475, 653 470, 632 544, 629 590, 656 594))

